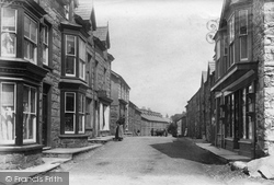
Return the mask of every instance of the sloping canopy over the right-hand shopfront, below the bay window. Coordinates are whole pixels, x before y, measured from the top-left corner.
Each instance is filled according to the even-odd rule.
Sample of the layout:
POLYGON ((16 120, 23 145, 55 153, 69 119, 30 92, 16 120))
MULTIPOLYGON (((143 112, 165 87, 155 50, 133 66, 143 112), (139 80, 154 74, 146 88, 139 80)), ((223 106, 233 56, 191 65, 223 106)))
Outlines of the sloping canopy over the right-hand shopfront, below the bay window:
POLYGON ((256 78, 258 62, 235 63, 227 73, 216 81, 210 91, 236 91, 248 85, 256 78))

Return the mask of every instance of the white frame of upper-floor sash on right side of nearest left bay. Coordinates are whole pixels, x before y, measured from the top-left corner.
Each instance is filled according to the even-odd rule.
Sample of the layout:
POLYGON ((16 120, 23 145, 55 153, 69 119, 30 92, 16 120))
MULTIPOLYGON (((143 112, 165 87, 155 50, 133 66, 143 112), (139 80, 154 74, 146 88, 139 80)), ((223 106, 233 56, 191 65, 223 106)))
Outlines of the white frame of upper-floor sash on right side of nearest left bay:
MULTIPOLYGON (((37 34, 37 32, 38 32, 38 24, 32 18, 30 18, 27 14, 24 14, 24 24, 25 24, 25 18, 30 19, 30 21, 36 25, 36 32, 35 32, 35 34, 36 34, 35 35, 36 41, 32 39, 32 36, 31 36, 32 26, 30 25, 30 36, 25 36, 25 31, 23 32, 23 34, 24 34, 24 44, 25 44, 25 41, 26 41, 28 43, 28 45, 33 44, 35 46, 35 48, 34 48, 34 57, 33 57, 34 59, 31 59, 30 56, 25 57, 25 50, 24 50, 24 59, 31 61, 32 63, 37 65, 37 41, 38 41, 38 34, 37 34)), ((24 46, 24 44, 23 44, 23 46, 24 46)), ((30 55, 30 51, 31 51, 31 50, 28 50, 28 49, 31 49, 28 47, 25 48, 25 46, 24 46, 24 49, 27 49, 27 55, 30 55)))

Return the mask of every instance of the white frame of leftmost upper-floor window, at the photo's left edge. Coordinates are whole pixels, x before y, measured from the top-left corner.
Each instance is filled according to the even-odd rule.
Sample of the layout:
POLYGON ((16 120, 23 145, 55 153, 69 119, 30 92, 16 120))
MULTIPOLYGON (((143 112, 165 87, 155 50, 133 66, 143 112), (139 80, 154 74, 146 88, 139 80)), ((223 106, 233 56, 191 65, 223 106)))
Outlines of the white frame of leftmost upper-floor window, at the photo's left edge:
POLYGON ((11 9, 11 8, 1 8, 1 47, 2 47, 2 34, 3 33, 7 33, 7 34, 14 34, 15 35, 15 37, 14 37, 14 54, 3 54, 2 53, 2 48, 1 48, 1 56, 2 57, 16 57, 16 36, 18 36, 18 10, 15 10, 15 9, 11 9, 11 10, 15 10, 15 22, 14 22, 14 24, 15 24, 15 31, 3 31, 2 30, 2 26, 3 26, 3 9, 11 9))

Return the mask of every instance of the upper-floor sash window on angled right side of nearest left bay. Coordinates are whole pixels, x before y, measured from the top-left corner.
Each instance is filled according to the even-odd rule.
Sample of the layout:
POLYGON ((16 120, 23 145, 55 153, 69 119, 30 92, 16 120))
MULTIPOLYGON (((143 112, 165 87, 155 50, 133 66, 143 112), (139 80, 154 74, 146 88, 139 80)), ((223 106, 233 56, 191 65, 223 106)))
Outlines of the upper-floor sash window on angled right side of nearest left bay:
POLYGON ((37 23, 24 16, 24 58, 37 63, 37 23))

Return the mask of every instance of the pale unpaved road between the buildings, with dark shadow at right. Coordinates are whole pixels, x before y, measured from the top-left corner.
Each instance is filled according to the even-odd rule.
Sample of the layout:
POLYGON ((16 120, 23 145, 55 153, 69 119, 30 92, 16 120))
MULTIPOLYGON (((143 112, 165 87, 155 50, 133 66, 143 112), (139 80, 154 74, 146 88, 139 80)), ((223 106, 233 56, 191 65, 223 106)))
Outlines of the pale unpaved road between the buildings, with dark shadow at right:
POLYGON ((231 171, 192 140, 173 137, 127 137, 78 155, 57 171, 68 171, 70 184, 255 185, 273 181, 231 171))

